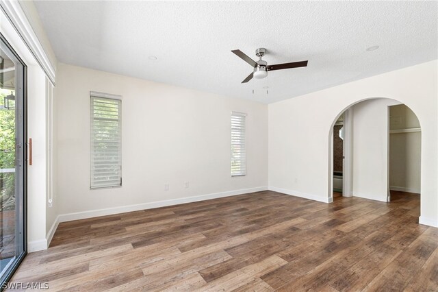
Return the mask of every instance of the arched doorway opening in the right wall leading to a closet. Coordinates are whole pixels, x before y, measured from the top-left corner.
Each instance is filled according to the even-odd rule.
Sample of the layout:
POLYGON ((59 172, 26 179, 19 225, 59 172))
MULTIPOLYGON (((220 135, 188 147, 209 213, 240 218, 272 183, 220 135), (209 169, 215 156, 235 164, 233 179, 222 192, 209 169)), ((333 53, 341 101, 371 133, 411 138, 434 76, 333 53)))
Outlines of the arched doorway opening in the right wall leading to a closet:
MULTIPOLYGON (((339 124, 339 117, 343 117, 345 128, 345 161, 342 175, 343 184, 347 188, 344 190, 345 197, 352 195, 388 202, 390 191, 420 193, 420 121, 408 106, 399 101, 371 98, 351 104, 339 112, 330 127, 329 202, 333 201, 334 188, 333 128, 337 122, 339 124), (398 112, 393 114, 392 118, 391 108, 398 112), (405 116, 402 117, 402 114, 405 116), (418 138, 420 141, 415 140, 418 138), (394 149, 397 150, 394 143, 407 144, 402 145, 404 148, 398 149, 399 151, 392 157, 390 154, 395 151, 394 149), (411 149, 413 146, 416 147, 414 150, 411 149), (403 151, 407 152, 404 154, 403 151), (407 161, 401 161, 400 158, 407 158, 407 161), (391 165, 393 170, 394 167, 398 169, 391 171, 391 165), (405 180, 403 175, 414 171, 417 171, 417 177, 405 180), (391 178, 391 175, 398 177, 391 178), (407 182, 406 185, 400 184, 404 181, 407 182)), ((339 187, 339 182, 337 186, 339 187)))

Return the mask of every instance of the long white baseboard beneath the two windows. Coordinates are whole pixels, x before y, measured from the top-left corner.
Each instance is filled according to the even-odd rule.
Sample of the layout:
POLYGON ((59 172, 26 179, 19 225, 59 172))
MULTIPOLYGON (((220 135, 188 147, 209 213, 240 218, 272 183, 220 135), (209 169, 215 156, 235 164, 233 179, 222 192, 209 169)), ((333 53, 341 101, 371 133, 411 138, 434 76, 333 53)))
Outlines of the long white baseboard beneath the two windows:
MULTIPOLYGON (((243 195, 246 193, 254 193, 258 191, 266 191, 268 190, 268 186, 259 186, 257 188, 244 188, 241 190, 235 191, 227 191, 222 193, 211 193, 207 195, 198 195, 194 197, 183 197, 179 199, 166 199, 164 201, 136 204, 136 205, 128 205, 128 206, 120 206, 115 208, 105 208, 98 210, 88 210, 83 212, 74 212, 68 214, 62 214, 57 217, 58 222, 66 222, 73 221, 79 219, 88 219, 92 217, 106 216, 106 215, 114 215, 125 212, 133 212, 138 210, 152 209, 152 208, 160 208, 166 206, 173 206, 178 204, 192 203, 198 201, 204 201, 205 199, 216 199, 219 197, 229 197, 232 195, 243 195)), ((55 230, 53 230, 53 233, 55 230)), ((52 235, 53 236, 53 235, 52 235)))

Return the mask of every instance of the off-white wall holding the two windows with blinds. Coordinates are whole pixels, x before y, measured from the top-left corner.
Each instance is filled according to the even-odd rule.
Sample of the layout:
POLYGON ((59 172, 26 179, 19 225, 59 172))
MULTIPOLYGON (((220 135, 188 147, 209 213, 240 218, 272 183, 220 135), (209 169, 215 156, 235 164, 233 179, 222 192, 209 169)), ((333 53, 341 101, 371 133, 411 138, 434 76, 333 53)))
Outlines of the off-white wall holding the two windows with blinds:
POLYGON ((267 187, 268 110, 264 104, 67 64, 58 64, 55 97, 60 213, 84 212, 62 220, 267 187), (123 96, 121 188, 90 190, 90 90, 123 96), (233 110, 248 114, 247 175, 231 178, 233 110), (184 188, 185 181, 190 182, 189 188, 184 188), (164 191, 164 184, 169 184, 169 191, 164 191), (136 206, 122 208, 129 205, 136 206))

